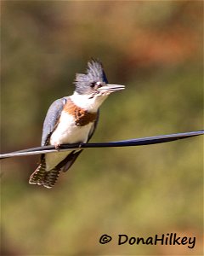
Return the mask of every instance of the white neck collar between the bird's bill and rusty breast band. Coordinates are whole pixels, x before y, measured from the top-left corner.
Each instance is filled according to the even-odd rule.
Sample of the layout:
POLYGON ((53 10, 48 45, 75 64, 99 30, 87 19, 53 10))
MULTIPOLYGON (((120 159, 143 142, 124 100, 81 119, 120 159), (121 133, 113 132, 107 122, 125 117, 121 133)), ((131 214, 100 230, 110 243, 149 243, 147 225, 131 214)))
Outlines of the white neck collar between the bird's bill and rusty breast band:
POLYGON ((90 95, 81 95, 75 91, 71 96, 71 101, 74 102, 77 107, 83 108, 88 112, 97 112, 106 97, 107 96, 94 96, 91 98, 90 95))

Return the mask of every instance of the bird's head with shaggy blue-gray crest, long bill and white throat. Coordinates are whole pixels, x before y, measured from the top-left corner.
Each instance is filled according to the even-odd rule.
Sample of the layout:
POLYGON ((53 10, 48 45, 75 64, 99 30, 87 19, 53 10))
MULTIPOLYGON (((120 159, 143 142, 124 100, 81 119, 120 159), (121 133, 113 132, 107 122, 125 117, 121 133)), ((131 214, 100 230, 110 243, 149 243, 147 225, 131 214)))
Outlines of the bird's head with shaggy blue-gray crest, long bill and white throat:
POLYGON ((88 61, 87 73, 77 73, 74 102, 81 108, 96 110, 112 92, 123 90, 124 85, 108 84, 105 71, 100 61, 88 61))

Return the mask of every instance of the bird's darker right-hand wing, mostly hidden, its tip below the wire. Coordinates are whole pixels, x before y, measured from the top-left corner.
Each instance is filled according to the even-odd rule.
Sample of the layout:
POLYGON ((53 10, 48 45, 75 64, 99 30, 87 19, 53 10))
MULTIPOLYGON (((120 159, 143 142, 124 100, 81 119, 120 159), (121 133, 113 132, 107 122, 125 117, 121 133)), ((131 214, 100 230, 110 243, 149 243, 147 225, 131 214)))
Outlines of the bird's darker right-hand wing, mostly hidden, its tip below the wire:
MULTIPOLYGON (((99 110, 97 112, 97 118, 94 121, 94 125, 92 126, 92 129, 90 130, 89 134, 88 134, 88 141, 91 139, 91 137, 94 134, 94 131, 96 129, 96 126, 98 125, 99 122, 99 110)), ((63 160, 60 163, 59 167, 62 167, 62 171, 66 172, 68 171, 68 169, 70 169, 70 167, 73 165, 73 163, 75 162, 75 160, 77 160, 77 157, 79 156, 79 154, 82 153, 82 149, 79 151, 73 150, 71 151, 71 154, 67 155, 67 157, 65 158, 65 160, 63 160)))

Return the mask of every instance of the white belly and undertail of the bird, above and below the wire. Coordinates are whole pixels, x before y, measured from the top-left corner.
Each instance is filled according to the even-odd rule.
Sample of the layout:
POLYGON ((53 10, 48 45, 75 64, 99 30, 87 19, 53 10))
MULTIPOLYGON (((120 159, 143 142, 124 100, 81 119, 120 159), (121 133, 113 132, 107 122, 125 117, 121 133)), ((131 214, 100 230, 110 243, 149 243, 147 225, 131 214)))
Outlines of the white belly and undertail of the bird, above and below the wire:
MULTIPOLYGON (((50 137, 50 144, 87 143, 92 125, 93 123, 77 126, 71 114, 62 112, 59 125, 50 137)), ((46 154, 46 171, 48 172, 53 169, 70 153, 71 151, 46 154)))

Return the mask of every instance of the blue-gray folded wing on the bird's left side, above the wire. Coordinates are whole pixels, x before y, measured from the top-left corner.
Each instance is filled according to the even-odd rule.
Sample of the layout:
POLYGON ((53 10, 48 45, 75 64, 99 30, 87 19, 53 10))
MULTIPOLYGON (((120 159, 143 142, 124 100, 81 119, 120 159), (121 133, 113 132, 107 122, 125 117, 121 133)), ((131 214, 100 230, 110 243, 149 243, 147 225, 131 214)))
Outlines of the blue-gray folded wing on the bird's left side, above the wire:
POLYGON ((48 138, 51 136, 52 132, 58 124, 60 114, 64 108, 66 98, 61 98, 52 103, 48 108, 48 113, 44 120, 43 129, 42 129, 42 141, 41 146, 48 145, 48 138))

